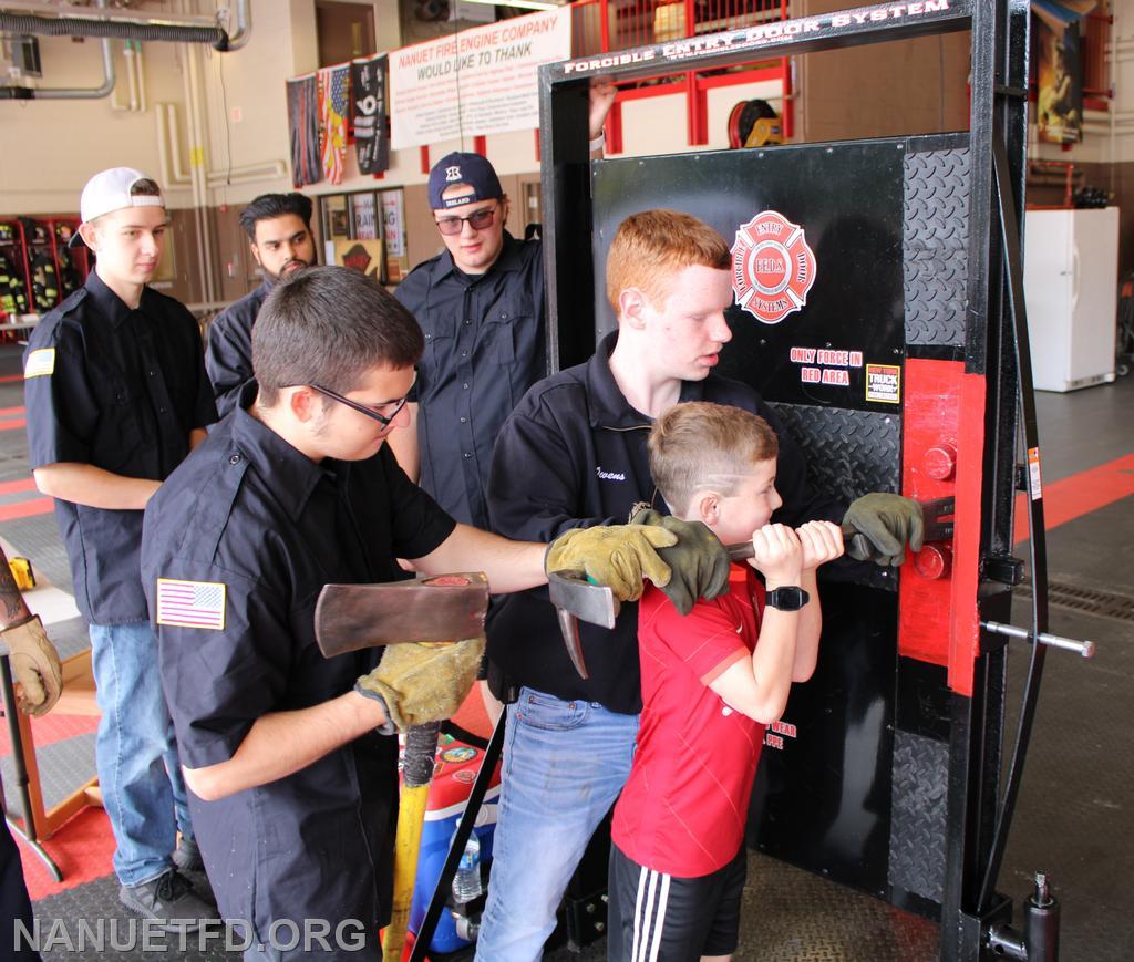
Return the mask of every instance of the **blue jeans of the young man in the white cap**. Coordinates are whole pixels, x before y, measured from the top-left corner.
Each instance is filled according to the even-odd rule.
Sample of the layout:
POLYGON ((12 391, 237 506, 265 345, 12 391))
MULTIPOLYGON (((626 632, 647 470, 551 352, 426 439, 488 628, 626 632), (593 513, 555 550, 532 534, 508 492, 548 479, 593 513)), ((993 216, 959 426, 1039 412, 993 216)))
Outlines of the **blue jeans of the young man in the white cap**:
POLYGON ((172 868, 176 832, 193 837, 185 780, 150 622, 90 628, 102 712, 94 756, 117 843, 115 874, 122 885, 138 885, 172 868))

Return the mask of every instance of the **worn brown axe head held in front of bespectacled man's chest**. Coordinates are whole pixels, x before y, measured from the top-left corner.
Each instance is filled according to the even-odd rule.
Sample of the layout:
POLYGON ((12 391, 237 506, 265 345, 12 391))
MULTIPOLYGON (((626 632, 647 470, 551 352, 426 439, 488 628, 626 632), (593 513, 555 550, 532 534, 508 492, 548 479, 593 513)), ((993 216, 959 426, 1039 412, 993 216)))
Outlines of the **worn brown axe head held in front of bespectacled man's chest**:
POLYGON ((382 585, 324 585, 315 603, 323 657, 406 641, 457 641, 484 633, 489 582, 483 572, 438 574, 382 585))

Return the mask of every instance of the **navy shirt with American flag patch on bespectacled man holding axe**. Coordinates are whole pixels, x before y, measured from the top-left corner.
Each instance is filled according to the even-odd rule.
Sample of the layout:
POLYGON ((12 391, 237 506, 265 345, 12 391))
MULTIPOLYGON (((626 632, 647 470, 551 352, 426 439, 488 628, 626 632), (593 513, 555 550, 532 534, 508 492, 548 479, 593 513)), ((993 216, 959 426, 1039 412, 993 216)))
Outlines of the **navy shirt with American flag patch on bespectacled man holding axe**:
MULTIPOLYGON (((145 518, 162 688, 191 768, 230 759, 264 714, 350 691, 376 653, 322 656, 320 589, 403 579, 395 557, 428 554, 455 526, 387 446, 365 461, 315 463, 243 407, 145 518)), ((332 933, 357 919, 373 938, 390 906, 397 751, 397 739, 372 733, 218 801, 191 792, 221 914, 249 921, 261 942, 276 919, 327 919, 332 933)))

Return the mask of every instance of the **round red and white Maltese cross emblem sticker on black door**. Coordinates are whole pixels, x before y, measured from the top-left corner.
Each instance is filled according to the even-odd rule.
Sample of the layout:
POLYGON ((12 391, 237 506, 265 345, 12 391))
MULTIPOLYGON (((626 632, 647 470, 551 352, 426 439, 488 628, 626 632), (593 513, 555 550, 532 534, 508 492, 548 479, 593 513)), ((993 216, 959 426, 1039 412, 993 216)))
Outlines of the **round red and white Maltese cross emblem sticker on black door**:
POLYGON ((736 232, 733 292, 763 324, 779 324, 807 303, 815 282, 815 255, 799 224, 778 211, 762 211, 736 232))

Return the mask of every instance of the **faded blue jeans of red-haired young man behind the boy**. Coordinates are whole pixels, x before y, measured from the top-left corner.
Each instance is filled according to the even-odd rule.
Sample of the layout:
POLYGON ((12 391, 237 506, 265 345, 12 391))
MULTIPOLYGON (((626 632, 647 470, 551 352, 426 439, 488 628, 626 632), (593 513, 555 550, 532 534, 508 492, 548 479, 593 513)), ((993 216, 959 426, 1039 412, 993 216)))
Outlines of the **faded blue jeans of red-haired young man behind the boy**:
POLYGON ((637 715, 530 688, 508 706, 476 962, 533 962, 594 829, 631 773, 637 715))

